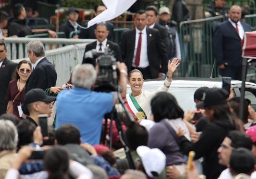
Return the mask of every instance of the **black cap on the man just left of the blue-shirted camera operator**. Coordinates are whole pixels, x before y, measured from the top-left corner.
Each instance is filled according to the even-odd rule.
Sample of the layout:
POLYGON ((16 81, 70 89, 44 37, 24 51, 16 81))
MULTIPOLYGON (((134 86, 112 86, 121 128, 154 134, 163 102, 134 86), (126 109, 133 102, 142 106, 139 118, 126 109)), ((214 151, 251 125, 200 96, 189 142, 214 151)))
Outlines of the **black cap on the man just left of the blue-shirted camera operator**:
POLYGON ((27 104, 30 104, 36 101, 43 101, 43 102, 49 103, 55 100, 56 100, 56 97, 48 96, 44 90, 35 88, 32 90, 29 90, 26 93, 24 104, 22 105, 22 111, 24 114, 29 115, 30 113, 28 111, 27 104))

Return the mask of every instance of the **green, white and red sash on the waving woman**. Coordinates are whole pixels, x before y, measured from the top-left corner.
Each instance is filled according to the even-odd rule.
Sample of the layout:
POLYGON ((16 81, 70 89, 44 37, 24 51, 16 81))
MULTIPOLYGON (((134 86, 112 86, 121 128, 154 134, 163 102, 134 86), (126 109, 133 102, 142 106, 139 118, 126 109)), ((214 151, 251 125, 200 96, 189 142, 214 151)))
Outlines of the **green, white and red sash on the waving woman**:
MULTIPOLYGON (((126 100, 127 100, 126 106, 133 116, 136 116, 138 112, 143 112, 145 114, 141 106, 136 101, 135 97, 132 96, 132 93, 126 94, 126 100)), ((147 116, 145 117, 145 119, 147 119, 147 116)))

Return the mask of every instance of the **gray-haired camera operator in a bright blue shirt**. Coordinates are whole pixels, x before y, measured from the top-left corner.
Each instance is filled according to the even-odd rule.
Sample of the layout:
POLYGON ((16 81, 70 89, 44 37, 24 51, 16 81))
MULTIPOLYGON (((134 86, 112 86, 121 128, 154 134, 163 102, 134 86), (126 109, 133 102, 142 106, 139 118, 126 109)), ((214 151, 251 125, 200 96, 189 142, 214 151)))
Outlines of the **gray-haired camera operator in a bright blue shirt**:
MULTIPOLYGON (((124 63, 117 62, 120 72, 119 85, 126 94, 127 67, 124 63)), ((99 144, 101 125, 104 115, 112 111, 117 103, 117 92, 91 91, 96 82, 97 73, 91 64, 83 64, 75 67, 72 74, 74 88, 62 90, 57 96, 56 127, 64 123, 71 123, 79 128, 84 142, 91 145, 99 144)))

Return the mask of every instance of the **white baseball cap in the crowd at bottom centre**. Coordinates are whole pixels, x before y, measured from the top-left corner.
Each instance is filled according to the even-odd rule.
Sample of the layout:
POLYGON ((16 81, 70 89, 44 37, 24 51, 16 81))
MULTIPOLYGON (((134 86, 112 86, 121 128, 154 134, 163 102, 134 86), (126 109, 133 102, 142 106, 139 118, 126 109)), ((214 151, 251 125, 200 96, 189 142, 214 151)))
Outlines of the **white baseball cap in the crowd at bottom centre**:
POLYGON ((139 146, 136 149, 149 177, 157 177, 166 167, 166 155, 160 149, 139 146))

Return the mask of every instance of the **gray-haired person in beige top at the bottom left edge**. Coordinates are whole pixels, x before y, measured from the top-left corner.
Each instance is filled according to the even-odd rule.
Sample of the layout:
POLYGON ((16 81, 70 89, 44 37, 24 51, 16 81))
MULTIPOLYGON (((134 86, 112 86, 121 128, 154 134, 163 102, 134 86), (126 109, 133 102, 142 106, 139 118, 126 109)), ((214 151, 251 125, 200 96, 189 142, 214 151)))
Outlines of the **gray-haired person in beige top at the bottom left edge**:
POLYGON ((15 162, 18 133, 14 123, 0 119, 0 179, 4 179, 7 171, 15 162))

